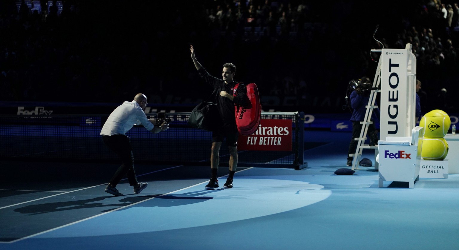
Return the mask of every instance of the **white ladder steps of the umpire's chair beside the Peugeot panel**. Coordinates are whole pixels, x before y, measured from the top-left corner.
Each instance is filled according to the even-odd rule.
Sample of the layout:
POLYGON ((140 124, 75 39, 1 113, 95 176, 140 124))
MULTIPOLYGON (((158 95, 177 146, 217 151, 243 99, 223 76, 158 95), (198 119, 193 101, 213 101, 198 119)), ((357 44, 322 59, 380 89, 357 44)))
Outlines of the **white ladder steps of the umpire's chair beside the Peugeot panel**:
MULTIPOLYGON (((375 78, 373 80, 373 85, 372 85, 372 88, 369 94, 368 104, 365 106, 366 111, 365 111, 364 121, 360 122, 360 124, 362 124, 362 129, 360 131, 359 137, 355 138, 355 140, 358 141, 357 149, 355 150, 354 154, 349 155, 349 156, 353 156, 352 170, 358 170, 358 165, 361 161, 364 150, 374 150, 375 151, 374 165, 375 165, 375 169, 378 169, 378 162, 376 161, 376 156, 379 153, 378 145, 377 144, 374 144, 374 145, 365 144, 365 141, 367 140, 369 125, 373 124, 373 121, 371 120, 373 111, 374 109, 378 108, 378 106, 376 105, 377 104, 376 96, 381 91, 380 84, 381 84, 381 60, 378 61, 378 67, 377 67, 375 78)), ((375 143, 377 143, 377 141, 375 143)))

